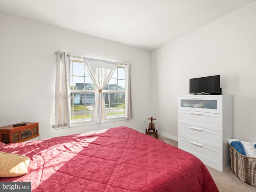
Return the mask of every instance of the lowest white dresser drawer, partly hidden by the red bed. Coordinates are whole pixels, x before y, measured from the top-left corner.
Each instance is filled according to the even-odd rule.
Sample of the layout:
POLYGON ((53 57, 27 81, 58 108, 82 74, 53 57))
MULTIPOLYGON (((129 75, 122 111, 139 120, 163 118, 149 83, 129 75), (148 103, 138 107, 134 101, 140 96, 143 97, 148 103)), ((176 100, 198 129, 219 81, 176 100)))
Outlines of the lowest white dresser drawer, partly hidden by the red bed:
POLYGON ((222 150, 182 137, 178 138, 178 147, 198 157, 204 164, 223 171, 222 150))

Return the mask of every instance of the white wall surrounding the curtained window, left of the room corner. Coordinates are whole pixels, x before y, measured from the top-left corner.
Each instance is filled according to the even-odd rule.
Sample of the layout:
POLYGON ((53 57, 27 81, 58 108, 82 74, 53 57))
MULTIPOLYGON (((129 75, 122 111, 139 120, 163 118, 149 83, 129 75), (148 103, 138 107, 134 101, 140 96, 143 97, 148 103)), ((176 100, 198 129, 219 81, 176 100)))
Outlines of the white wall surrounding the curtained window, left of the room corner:
POLYGON ((40 138, 116 126, 145 130, 151 116, 151 52, 0 12, 0 126, 39 122, 40 138), (56 51, 132 64, 134 118, 66 129, 52 128, 56 51), (143 87, 143 90, 142 90, 143 87))

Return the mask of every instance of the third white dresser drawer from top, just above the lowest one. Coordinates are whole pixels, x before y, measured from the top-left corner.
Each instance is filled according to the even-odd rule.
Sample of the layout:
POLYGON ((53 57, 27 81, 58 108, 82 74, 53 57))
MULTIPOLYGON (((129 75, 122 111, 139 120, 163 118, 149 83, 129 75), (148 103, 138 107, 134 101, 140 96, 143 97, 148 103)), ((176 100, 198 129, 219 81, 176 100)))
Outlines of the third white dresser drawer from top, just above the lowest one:
POLYGON ((222 132, 178 123, 178 136, 222 150, 222 132))

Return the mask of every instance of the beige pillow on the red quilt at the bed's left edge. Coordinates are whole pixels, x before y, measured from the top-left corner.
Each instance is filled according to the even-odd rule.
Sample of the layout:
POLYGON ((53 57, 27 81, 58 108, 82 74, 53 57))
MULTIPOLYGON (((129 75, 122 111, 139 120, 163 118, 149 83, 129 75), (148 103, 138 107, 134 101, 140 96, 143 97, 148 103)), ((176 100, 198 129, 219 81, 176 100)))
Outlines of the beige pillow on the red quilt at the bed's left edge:
POLYGON ((30 158, 24 155, 0 152, 0 177, 17 177, 28 173, 30 158))

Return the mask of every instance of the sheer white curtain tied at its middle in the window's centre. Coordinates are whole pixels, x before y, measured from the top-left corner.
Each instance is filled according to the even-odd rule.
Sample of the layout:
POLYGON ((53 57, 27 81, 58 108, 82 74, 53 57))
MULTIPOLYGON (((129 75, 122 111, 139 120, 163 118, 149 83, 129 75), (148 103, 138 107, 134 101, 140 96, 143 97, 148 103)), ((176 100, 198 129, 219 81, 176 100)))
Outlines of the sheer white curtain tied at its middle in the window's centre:
POLYGON ((98 90, 92 112, 92 120, 100 123, 101 120, 107 118, 102 89, 108 84, 118 63, 93 58, 84 58, 84 63, 94 86, 98 90))

